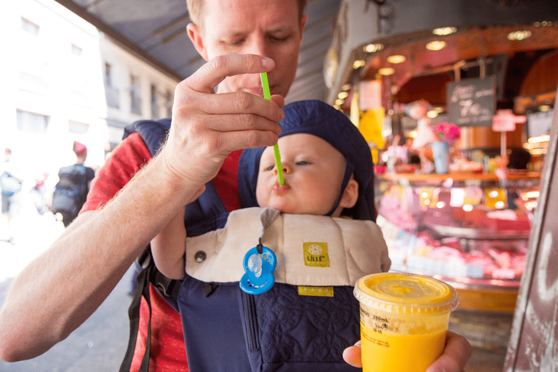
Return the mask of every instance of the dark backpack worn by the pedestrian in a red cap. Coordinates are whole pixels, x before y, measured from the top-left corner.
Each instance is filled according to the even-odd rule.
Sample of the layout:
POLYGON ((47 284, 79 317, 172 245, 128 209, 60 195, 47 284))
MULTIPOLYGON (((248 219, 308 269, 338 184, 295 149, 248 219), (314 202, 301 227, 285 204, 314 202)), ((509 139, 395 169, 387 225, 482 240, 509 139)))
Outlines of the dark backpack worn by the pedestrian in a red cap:
POLYGON ((61 168, 58 172, 60 181, 56 183, 52 195, 52 212, 77 216, 85 203, 88 184, 94 175, 92 168, 83 165, 61 168))

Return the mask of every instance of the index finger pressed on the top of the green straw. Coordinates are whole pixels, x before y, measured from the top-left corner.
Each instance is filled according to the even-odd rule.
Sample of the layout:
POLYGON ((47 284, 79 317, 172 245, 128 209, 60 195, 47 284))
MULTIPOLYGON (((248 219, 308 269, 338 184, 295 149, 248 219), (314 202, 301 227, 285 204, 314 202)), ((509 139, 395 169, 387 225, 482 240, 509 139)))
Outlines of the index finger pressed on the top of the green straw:
POLYGON ((274 67, 275 61, 272 59, 254 54, 217 56, 206 62, 189 78, 182 80, 177 89, 181 88, 181 85, 187 85, 195 91, 213 93, 213 87, 227 76, 259 74, 271 71, 274 67))

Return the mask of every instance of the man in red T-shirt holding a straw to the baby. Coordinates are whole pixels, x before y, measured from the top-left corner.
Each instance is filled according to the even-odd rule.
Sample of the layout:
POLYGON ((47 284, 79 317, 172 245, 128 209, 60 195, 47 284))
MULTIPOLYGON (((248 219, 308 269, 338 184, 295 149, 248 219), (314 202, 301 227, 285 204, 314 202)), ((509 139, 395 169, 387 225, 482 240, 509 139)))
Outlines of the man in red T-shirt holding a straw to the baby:
MULTIPOLYGON (((151 156, 141 139, 129 136, 99 171, 78 218, 15 279, 0 311, 2 359, 40 355, 68 336, 104 301, 153 236, 195 200, 209 180, 214 179, 228 210, 239 207, 240 150, 272 146, 281 132, 277 122, 283 119, 283 96, 295 78, 306 22, 304 5, 296 0, 189 0, 193 23, 188 34, 209 62, 176 87, 169 138, 157 156, 133 176, 140 160, 151 156), (261 98, 259 73, 264 71, 271 100, 261 98), (214 86, 219 94, 214 94, 214 86), (103 185, 98 185, 100 180, 103 185), (126 183, 122 191, 101 207, 121 183, 126 183), (106 195, 95 199, 100 188, 106 195)), ((180 318, 156 291, 150 293, 155 302, 150 370, 187 370, 184 341, 177 340, 180 318), (165 332, 174 332, 172 340, 165 332)), ((136 354, 143 354, 142 340, 131 370, 141 363, 136 354)), ((461 349, 469 347, 462 337, 458 341, 461 349)), ((451 361, 460 368, 467 359, 451 361)))

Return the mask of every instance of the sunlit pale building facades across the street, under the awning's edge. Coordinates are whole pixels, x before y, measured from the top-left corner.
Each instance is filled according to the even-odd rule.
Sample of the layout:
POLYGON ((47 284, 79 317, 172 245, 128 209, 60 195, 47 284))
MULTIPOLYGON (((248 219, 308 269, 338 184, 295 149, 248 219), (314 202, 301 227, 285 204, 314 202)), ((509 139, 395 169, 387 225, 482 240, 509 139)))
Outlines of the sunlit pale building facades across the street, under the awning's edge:
POLYGON ((127 124, 170 116, 177 81, 59 3, 9 0, 1 13, 0 148, 31 178, 73 164, 74 141, 101 166, 127 124))

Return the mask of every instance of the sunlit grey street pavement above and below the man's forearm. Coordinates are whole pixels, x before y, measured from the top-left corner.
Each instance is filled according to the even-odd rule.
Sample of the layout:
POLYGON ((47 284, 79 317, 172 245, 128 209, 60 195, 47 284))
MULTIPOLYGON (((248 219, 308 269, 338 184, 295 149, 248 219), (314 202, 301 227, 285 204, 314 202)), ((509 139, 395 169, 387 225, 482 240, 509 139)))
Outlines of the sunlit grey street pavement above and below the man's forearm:
MULTIPOLYGON (((64 231, 64 225, 50 212, 40 216, 27 203, 13 222, 16 244, 0 241, 0 305, 12 279, 64 231)), ((5 221, 0 227, 0 239, 7 234, 3 224, 5 221)), ((66 340, 31 360, 17 363, 0 360, 0 372, 118 371, 128 345, 132 274, 128 270, 97 311, 66 340)))

